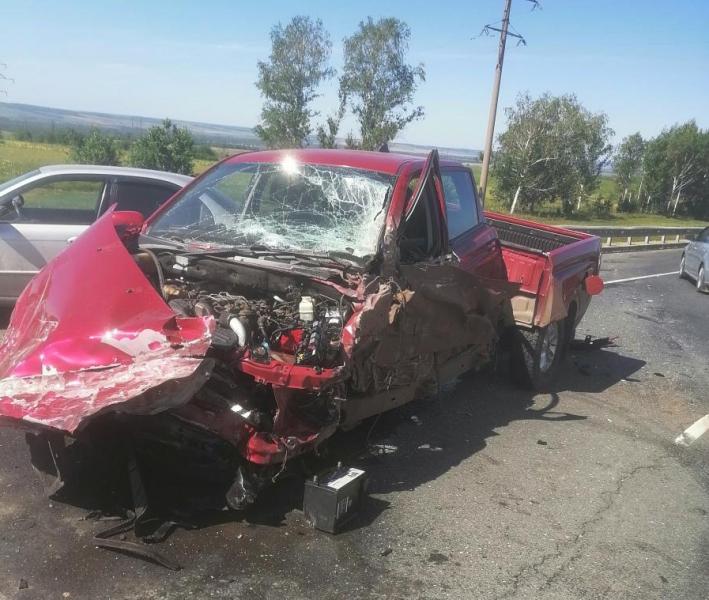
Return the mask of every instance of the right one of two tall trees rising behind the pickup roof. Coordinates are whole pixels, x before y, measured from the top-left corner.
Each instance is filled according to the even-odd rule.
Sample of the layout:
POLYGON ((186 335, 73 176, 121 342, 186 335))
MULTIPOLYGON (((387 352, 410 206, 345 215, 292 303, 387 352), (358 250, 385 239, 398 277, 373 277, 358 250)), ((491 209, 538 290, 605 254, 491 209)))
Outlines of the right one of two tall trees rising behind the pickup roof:
POLYGON ((360 138, 349 135, 349 146, 376 150, 423 117, 423 107, 410 106, 426 78, 422 64, 406 62, 410 37, 408 25, 399 19, 375 22, 369 17, 345 39, 340 98, 359 122, 360 138))

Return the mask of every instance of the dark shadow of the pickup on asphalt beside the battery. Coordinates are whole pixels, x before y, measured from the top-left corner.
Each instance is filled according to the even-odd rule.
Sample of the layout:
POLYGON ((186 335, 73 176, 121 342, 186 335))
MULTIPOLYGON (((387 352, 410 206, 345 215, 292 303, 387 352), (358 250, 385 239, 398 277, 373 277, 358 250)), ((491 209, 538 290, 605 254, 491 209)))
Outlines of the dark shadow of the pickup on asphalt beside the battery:
MULTIPOLYGON (((413 490, 484 450, 487 439, 505 435, 515 421, 543 420, 563 427, 586 415, 564 410, 565 391, 601 393, 632 375, 644 361, 613 350, 574 352, 553 390, 536 394, 508 377, 475 374, 446 386, 438 397, 417 400, 374 417, 351 432, 333 436, 326 447, 329 465, 343 461, 365 469, 370 491, 413 490)), ((495 462, 485 455, 485 460, 495 462)))

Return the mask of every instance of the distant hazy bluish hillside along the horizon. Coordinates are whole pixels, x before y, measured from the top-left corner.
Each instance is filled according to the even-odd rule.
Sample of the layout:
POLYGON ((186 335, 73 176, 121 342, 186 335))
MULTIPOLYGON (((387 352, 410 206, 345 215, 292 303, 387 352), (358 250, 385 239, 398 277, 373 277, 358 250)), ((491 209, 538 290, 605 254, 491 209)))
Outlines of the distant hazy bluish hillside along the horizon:
MULTIPOLYGON (((0 102, 0 129, 17 131, 46 132, 52 127, 57 129, 87 130, 99 127, 106 131, 113 131, 121 135, 138 136, 144 129, 158 125, 162 119, 140 117, 136 115, 113 115, 78 110, 65 110, 34 106, 32 104, 14 104, 0 102)), ((234 148, 262 148, 263 144, 251 127, 236 125, 217 125, 214 123, 201 123, 198 121, 180 121, 173 119, 180 127, 190 130, 197 141, 214 146, 234 148)), ((315 140, 313 140, 315 142, 315 140)), ((343 142, 344 143, 344 142, 343 142)), ((392 152, 423 155, 430 150, 429 146, 416 144, 392 143, 389 144, 392 152)), ((463 162, 478 162, 479 150, 467 148, 438 147, 441 157, 463 162)))

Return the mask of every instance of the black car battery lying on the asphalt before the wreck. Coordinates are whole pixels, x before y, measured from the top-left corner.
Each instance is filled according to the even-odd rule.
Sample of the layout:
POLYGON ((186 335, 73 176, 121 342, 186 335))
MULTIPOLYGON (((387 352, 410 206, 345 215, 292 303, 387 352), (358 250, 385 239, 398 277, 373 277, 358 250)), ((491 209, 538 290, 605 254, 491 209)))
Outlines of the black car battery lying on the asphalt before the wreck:
POLYGON ((367 495, 367 474, 338 465, 305 482, 303 513, 321 531, 337 533, 357 515, 367 495))

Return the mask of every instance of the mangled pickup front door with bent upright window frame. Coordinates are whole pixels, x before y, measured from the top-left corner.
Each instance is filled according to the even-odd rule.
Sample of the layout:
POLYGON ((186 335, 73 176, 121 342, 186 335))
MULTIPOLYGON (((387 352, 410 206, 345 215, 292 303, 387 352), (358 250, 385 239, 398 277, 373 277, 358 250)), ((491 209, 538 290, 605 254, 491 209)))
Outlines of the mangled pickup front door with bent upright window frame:
MULTIPOLYGON (((450 251, 438 154, 421 171, 398 231, 403 291, 393 335, 380 347, 393 372, 411 365, 414 381, 449 381, 490 358, 504 296, 483 287, 450 251), (491 293, 492 292, 492 293, 491 293)), ((406 381, 406 378, 403 378, 406 381)), ((396 377, 390 375, 390 380, 396 377)))

